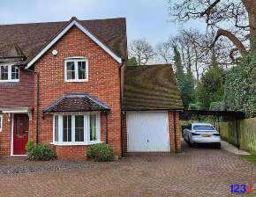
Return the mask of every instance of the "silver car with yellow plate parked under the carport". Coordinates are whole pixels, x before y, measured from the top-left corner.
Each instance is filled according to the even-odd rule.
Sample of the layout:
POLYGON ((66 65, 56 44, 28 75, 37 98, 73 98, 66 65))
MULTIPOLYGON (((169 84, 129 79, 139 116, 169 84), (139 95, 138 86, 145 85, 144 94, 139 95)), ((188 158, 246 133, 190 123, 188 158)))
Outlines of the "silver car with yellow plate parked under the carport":
POLYGON ((184 140, 189 145, 195 143, 215 144, 221 147, 221 137, 213 125, 209 123, 191 123, 184 128, 184 140))

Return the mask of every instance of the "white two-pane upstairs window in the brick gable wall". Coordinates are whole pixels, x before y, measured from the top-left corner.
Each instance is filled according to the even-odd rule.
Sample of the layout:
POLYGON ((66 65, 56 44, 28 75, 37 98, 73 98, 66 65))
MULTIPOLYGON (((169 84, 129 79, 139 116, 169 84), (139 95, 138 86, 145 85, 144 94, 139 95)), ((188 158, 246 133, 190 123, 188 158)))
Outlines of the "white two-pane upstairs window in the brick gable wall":
POLYGON ((65 82, 87 82, 88 60, 86 58, 67 58, 64 61, 65 82))

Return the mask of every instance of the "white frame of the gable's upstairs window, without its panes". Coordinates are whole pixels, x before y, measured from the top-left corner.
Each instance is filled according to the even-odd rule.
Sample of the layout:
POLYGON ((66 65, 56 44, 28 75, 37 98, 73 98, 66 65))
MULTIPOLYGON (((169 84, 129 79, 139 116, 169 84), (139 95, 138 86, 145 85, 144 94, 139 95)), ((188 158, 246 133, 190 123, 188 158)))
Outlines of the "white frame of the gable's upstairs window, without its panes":
POLYGON ((68 57, 64 59, 64 82, 87 82, 88 81, 88 59, 87 57, 68 57), (75 79, 67 79, 67 62, 75 62, 75 79), (78 62, 86 62, 86 79, 79 79, 78 62))

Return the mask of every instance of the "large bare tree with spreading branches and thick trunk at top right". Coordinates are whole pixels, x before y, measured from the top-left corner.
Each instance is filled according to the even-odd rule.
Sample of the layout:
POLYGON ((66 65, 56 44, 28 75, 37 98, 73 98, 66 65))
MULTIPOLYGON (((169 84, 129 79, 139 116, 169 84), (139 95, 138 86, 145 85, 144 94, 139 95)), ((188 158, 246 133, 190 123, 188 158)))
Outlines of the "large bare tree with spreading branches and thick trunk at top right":
POLYGON ((255 50, 252 47, 256 37, 255 0, 184 0, 182 4, 172 4, 169 0, 169 5, 169 15, 174 17, 173 22, 182 24, 191 18, 205 20, 208 29, 216 33, 210 47, 214 47, 216 41, 224 36, 232 41, 235 46, 233 50, 239 51, 242 56, 248 52, 247 38, 251 50, 255 50))

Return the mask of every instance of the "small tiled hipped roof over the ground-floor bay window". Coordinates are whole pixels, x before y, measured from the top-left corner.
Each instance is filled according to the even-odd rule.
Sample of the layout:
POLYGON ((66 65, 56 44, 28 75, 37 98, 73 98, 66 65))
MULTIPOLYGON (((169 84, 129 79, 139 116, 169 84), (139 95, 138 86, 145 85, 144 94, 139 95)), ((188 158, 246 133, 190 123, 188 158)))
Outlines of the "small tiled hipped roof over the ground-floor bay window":
POLYGON ((110 107, 88 93, 66 94, 53 104, 43 108, 42 113, 109 111, 110 107))

